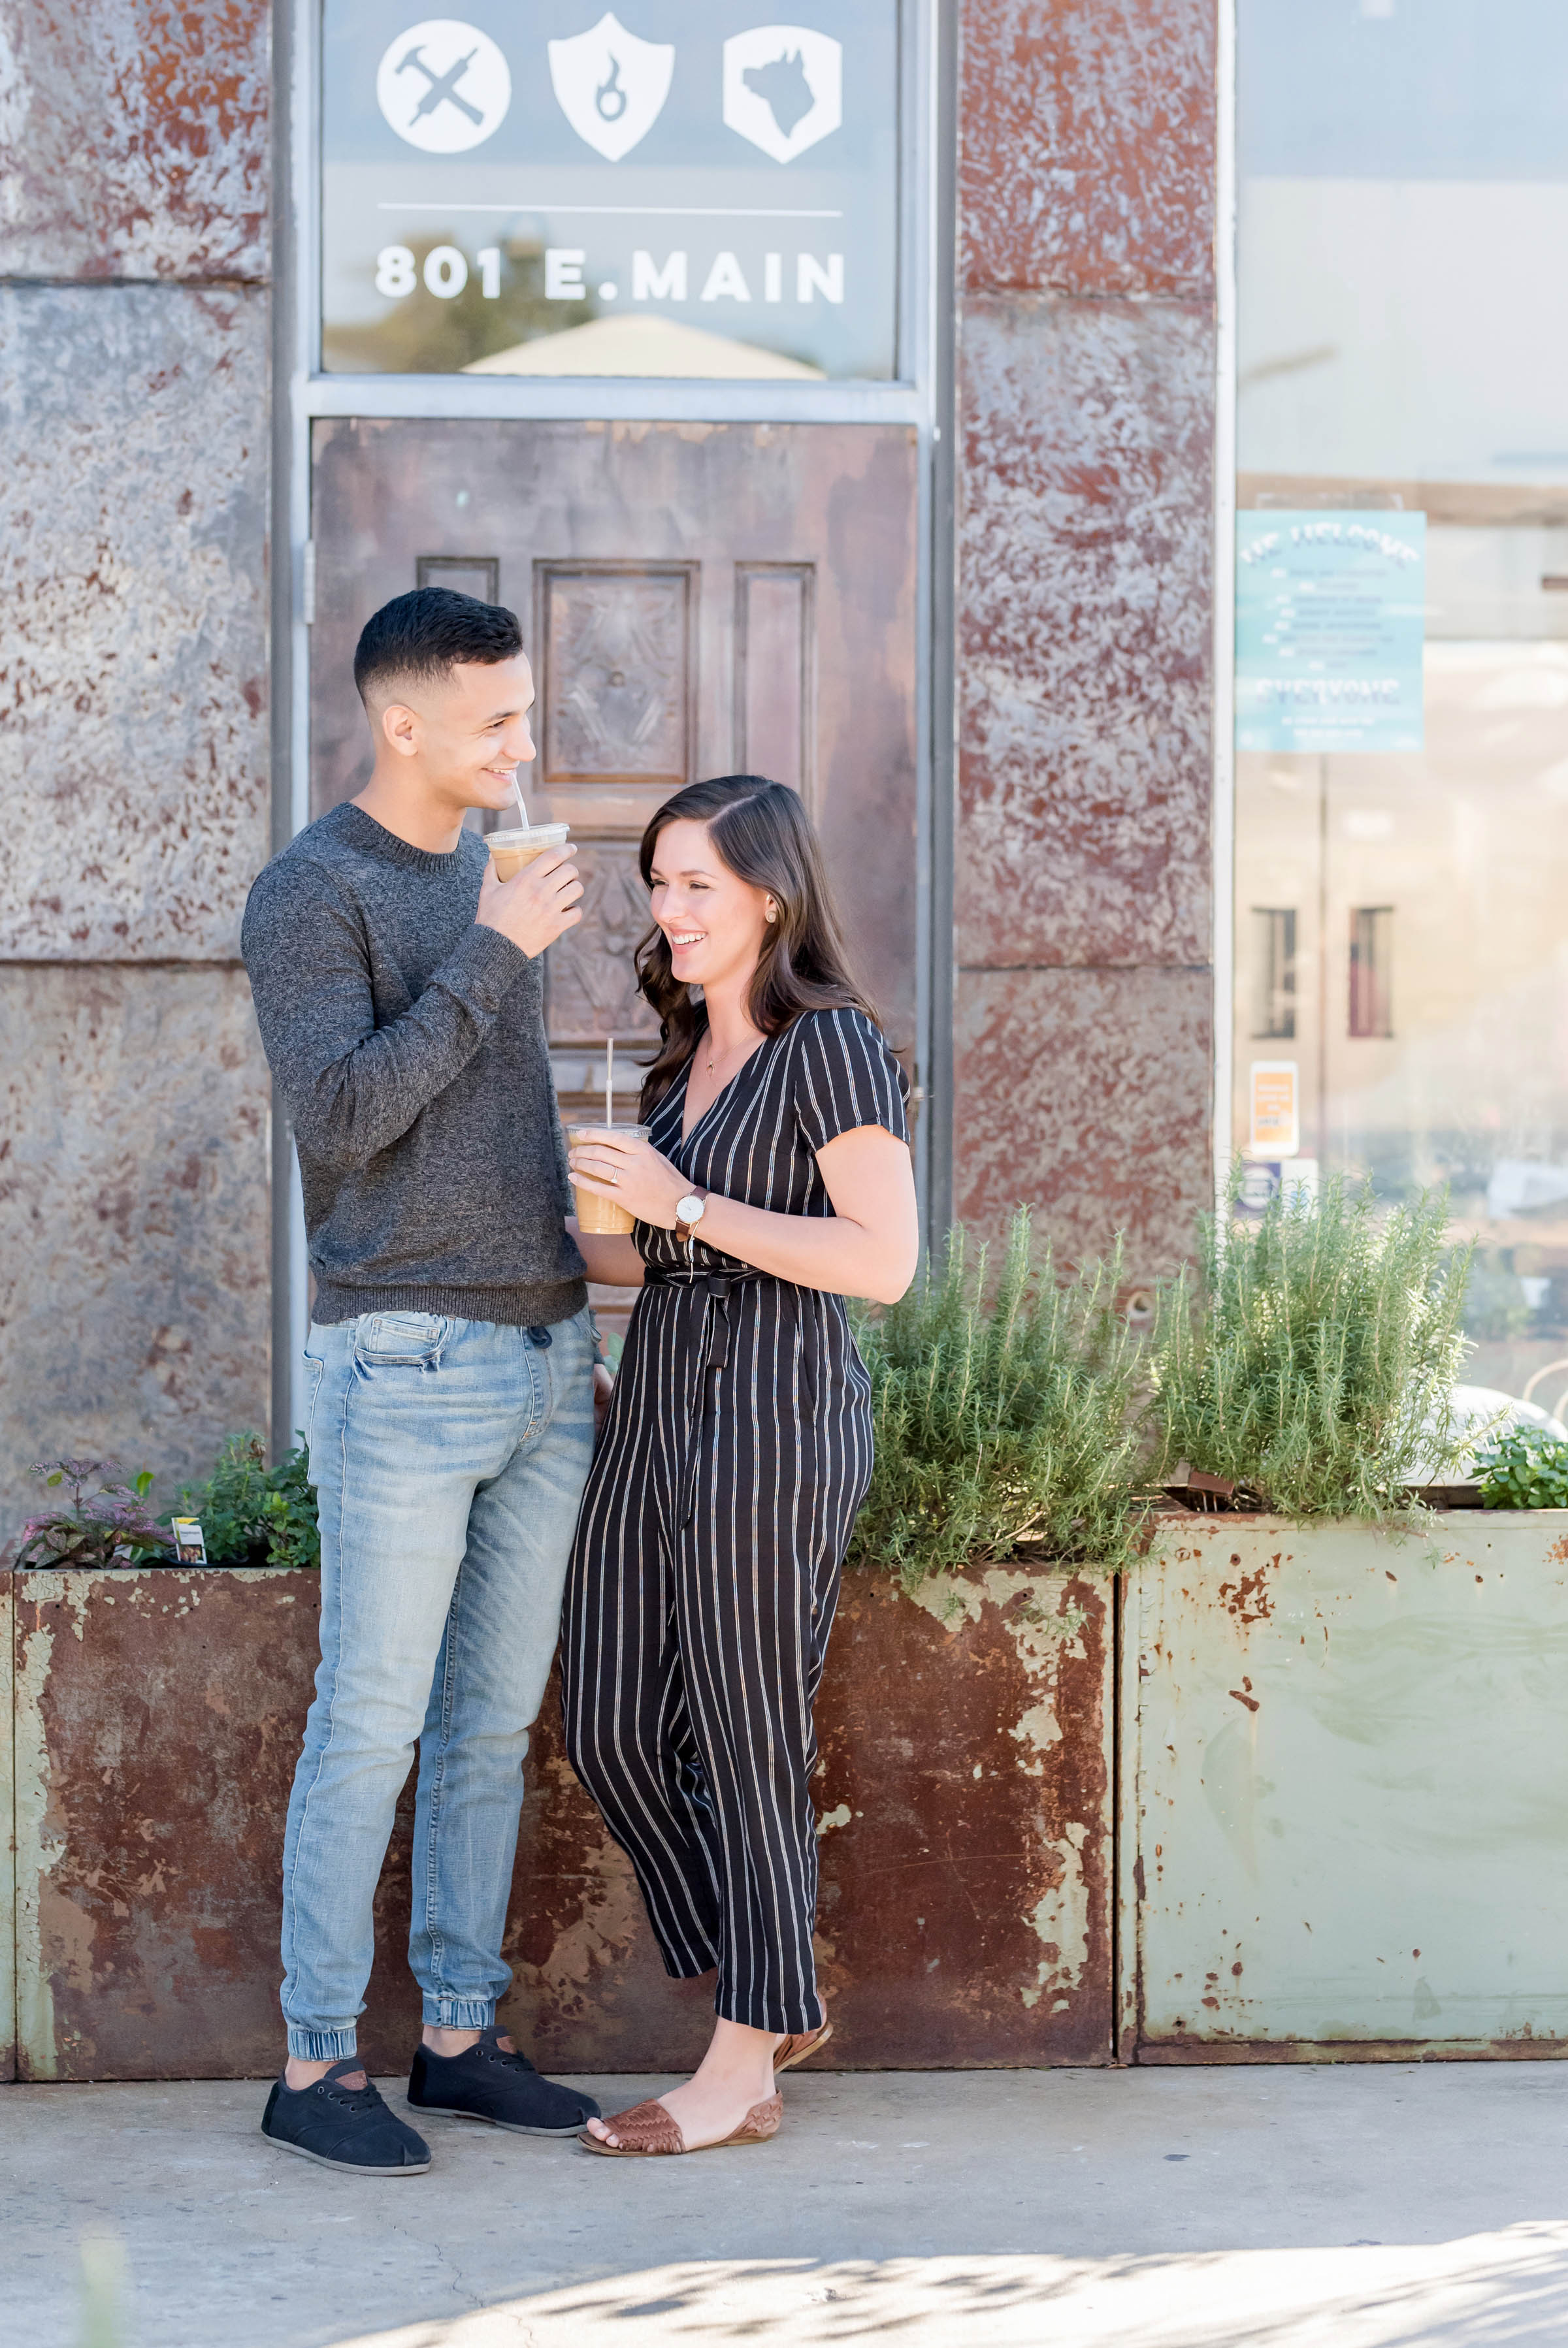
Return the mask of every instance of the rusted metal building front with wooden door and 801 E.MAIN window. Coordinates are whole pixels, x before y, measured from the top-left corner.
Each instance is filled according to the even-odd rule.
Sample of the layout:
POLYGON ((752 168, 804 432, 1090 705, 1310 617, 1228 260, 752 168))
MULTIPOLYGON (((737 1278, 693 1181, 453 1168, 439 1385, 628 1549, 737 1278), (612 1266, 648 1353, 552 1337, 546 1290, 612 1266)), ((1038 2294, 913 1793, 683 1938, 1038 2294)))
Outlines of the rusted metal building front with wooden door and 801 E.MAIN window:
POLYGON ((932 1230, 1120 1230, 1136 1303, 1214 1195, 1230 19, 624 16, 9 12, 7 1533, 38 1456, 167 1496, 289 1437, 239 913, 357 787, 354 632, 415 580, 512 603, 540 672, 589 878, 566 1099, 643 1035, 641 822, 763 768, 824 826, 932 1230))

